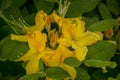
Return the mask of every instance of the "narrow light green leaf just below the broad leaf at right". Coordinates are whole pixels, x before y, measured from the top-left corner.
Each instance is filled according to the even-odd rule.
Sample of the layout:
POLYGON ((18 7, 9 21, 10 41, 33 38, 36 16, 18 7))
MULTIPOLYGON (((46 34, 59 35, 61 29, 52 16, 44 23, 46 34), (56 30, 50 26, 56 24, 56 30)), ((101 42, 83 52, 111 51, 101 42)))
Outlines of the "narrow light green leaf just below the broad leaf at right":
POLYGON ((88 66, 92 66, 92 67, 107 67, 110 65, 109 61, 102 61, 102 60, 95 60, 95 59, 85 60, 85 63, 88 66))

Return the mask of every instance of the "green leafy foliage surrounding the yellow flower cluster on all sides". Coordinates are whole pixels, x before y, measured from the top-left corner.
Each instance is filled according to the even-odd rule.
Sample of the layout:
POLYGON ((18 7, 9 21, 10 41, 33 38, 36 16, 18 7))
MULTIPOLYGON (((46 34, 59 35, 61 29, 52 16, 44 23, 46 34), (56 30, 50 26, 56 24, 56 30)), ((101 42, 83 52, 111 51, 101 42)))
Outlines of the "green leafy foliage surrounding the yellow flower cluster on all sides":
MULTIPOLYGON (((61 1, 64 5, 65 0, 61 1)), ((76 80, 120 80, 120 50, 117 49, 118 44, 111 42, 111 40, 120 41, 118 27, 120 24, 117 21, 120 16, 120 0, 68 1, 71 4, 65 17, 82 16, 87 30, 102 31, 105 34, 104 31, 112 28, 114 35, 110 40, 104 38, 103 41, 88 46, 88 53, 84 61, 80 62, 76 58, 68 57, 64 63, 76 68, 76 80), (117 29, 114 30, 114 28, 117 29), (103 73, 99 67, 107 67, 108 72, 103 73)), ((57 12, 58 6, 61 6, 60 0, 0 0, 0 80, 18 80, 18 77, 25 74, 24 68, 19 68, 21 65, 17 65, 17 62, 11 63, 29 50, 27 43, 12 41, 9 36, 11 33, 15 33, 12 29, 16 29, 19 34, 24 34, 23 25, 19 19, 25 20, 28 26, 33 26, 35 25, 35 15, 39 10, 50 14, 53 10, 57 12), (11 60, 11 62, 6 60, 11 60), (16 73, 13 74, 15 71, 17 76, 16 73)), ((46 67, 42 60, 39 62, 39 68, 39 73, 25 75, 19 80, 45 80, 46 75, 61 80, 70 76, 60 67, 46 67)))

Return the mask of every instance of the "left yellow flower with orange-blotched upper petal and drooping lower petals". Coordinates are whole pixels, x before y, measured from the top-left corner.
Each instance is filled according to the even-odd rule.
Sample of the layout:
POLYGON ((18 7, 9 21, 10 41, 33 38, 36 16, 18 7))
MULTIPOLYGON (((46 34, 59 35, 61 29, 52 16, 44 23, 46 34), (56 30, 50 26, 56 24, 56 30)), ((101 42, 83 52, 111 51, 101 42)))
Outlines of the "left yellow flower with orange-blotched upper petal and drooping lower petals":
POLYGON ((35 31, 33 34, 27 33, 27 40, 30 50, 18 60, 29 61, 26 65, 27 74, 36 73, 39 71, 39 60, 45 53, 47 36, 35 31))

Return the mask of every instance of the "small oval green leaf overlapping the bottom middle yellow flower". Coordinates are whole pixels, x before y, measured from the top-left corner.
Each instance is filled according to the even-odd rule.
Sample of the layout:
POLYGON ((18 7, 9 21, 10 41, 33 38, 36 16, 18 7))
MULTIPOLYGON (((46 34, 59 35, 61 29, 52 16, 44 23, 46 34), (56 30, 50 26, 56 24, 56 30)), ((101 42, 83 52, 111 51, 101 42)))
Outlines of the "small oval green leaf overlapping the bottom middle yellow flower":
POLYGON ((67 57, 65 58, 64 63, 69 66, 78 67, 82 62, 78 61, 75 57, 67 57))

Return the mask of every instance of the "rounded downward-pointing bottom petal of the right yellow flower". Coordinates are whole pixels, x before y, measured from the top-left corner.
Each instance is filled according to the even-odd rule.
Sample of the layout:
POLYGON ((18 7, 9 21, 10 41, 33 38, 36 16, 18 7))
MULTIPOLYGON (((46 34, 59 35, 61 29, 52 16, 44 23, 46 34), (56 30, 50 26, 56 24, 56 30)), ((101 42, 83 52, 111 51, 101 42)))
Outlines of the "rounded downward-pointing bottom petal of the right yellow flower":
POLYGON ((79 60, 82 61, 85 59, 85 56, 88 52, 88 49, 86 46, 79 46, 75 49, 75 57, 79 60))

